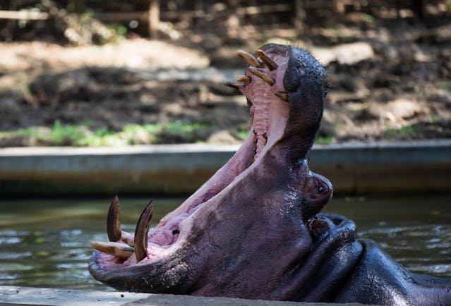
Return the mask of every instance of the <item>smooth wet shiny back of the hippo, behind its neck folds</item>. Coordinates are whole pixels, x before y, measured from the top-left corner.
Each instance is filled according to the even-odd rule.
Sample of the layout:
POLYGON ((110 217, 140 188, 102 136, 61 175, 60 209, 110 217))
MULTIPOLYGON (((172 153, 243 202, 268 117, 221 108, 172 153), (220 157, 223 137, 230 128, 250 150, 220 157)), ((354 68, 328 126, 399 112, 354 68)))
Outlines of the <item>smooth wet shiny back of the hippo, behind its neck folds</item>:
POLYGON ((363 246, 359 264, 334 302, 451 305, 451 279, 411 273, 374 241, 361 239, 359 243, 363 246))

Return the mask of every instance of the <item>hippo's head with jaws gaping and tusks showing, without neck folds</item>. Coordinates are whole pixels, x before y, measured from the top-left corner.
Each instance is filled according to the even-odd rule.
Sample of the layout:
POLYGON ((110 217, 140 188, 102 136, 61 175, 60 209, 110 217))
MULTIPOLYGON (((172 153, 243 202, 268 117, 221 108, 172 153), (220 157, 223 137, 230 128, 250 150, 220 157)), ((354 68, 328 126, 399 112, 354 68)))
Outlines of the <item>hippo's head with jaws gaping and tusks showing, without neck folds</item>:
POLYGON ((280 283, 290 283, 315 240, 335 226, 314 217, 332 185, 306 162, 323 116, 323 67, 307 51, 279 44, 238 55, 249 63, 246 75, 226 85, 248 100, 250 135, 151 231, 153 201, 133 234, 121 231, 115 197, 110 242, 92 243, 95 279, 147 293, 284 299, 280 283))

